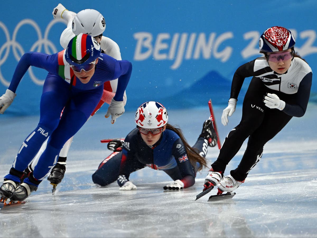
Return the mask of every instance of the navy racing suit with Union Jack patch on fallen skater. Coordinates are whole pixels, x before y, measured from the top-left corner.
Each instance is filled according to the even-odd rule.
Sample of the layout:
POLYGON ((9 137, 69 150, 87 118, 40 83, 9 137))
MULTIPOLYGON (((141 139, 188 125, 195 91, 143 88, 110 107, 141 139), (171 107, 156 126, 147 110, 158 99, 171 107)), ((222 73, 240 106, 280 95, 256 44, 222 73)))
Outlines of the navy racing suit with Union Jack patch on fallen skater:
MULTIPOLYGON (((205 157, 207 146, 207 140, 199 137, 193 148, 205 157)), ((126 136, 122 151, 113 152, 100 163, 92 175, 93 182, 106 186, 117 181, 119 175, 123 175, 125 179, 117 181, 122 187, 129 181, 132 172, 146 166, 163 170, 174 181, 181 180, 184 188, 191 187, 195 183, 197 164, 191 164, 183 141, 174 131, 165 129, 159 141, 149 146, 144 142, 137 128, 126 136)))

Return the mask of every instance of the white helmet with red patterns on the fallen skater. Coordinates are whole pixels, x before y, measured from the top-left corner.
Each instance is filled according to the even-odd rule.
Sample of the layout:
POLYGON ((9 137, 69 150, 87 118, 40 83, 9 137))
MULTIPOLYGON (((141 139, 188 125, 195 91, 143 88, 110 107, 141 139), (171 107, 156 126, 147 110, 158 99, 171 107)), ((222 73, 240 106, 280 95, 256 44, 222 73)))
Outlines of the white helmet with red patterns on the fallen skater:
POLYGON ((159 102, 145 102, 135 113, 135 123, 141 128, 160 128, 168 121, 165 107, 159 102))

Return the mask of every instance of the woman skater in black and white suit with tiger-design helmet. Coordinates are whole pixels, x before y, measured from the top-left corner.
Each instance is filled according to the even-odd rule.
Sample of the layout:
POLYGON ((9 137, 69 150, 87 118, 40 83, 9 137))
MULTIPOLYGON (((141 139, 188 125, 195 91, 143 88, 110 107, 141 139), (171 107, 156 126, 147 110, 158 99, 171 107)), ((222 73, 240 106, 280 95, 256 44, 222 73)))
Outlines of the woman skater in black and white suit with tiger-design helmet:
POLYGON ((265 30, 260 38, 264 56, 241 65, 235 72, 228 107, 221 122, 228 123, 244 78, 253 76, 243 100, 241 122, 223 142, 217 160, 205 178, 204 189, 218 185, 218 195, 232 192, 241 185, 249 171, 261 159, 263 146, 293 117, 305 114, 312 84, 312 70, 294 51, 291 31, 280 26, 265 30), (249 137, 238 167, 223 178, 230 160, 249 137))

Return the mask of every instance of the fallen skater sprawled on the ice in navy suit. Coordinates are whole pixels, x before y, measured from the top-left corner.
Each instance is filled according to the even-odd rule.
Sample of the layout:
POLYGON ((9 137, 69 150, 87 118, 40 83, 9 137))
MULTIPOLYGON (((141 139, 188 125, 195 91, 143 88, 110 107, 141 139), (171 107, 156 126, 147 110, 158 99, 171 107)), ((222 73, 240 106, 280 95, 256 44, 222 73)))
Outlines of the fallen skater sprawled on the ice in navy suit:
POLYGON ((108 149, 114 152, 104 159, 92 175, 93 182, 106 186, 117 181, 119 190, 136 190, 130 174, 149 167, 163 170, 173 180, 163 187, 180 191, 195 184, 196 172, 206 166, 207 147, 217 145, 217 135, 211 120, 203 124, 193 147, 182 131, 168 123, 168 113, 159 102, 145 102, 135 113, 136 128, 122 142, 113 140, 108 149))

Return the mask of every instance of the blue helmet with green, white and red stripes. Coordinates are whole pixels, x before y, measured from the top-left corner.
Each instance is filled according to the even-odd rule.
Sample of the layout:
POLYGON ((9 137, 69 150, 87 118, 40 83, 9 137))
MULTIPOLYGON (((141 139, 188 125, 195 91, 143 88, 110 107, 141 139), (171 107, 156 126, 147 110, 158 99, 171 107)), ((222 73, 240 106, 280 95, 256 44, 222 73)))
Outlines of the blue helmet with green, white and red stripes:
POLYGON ((80 33, 69 41, 64 54, 70 65, 84 67, 94 62, 100 52, 100 44, 92 36, 80 33))

